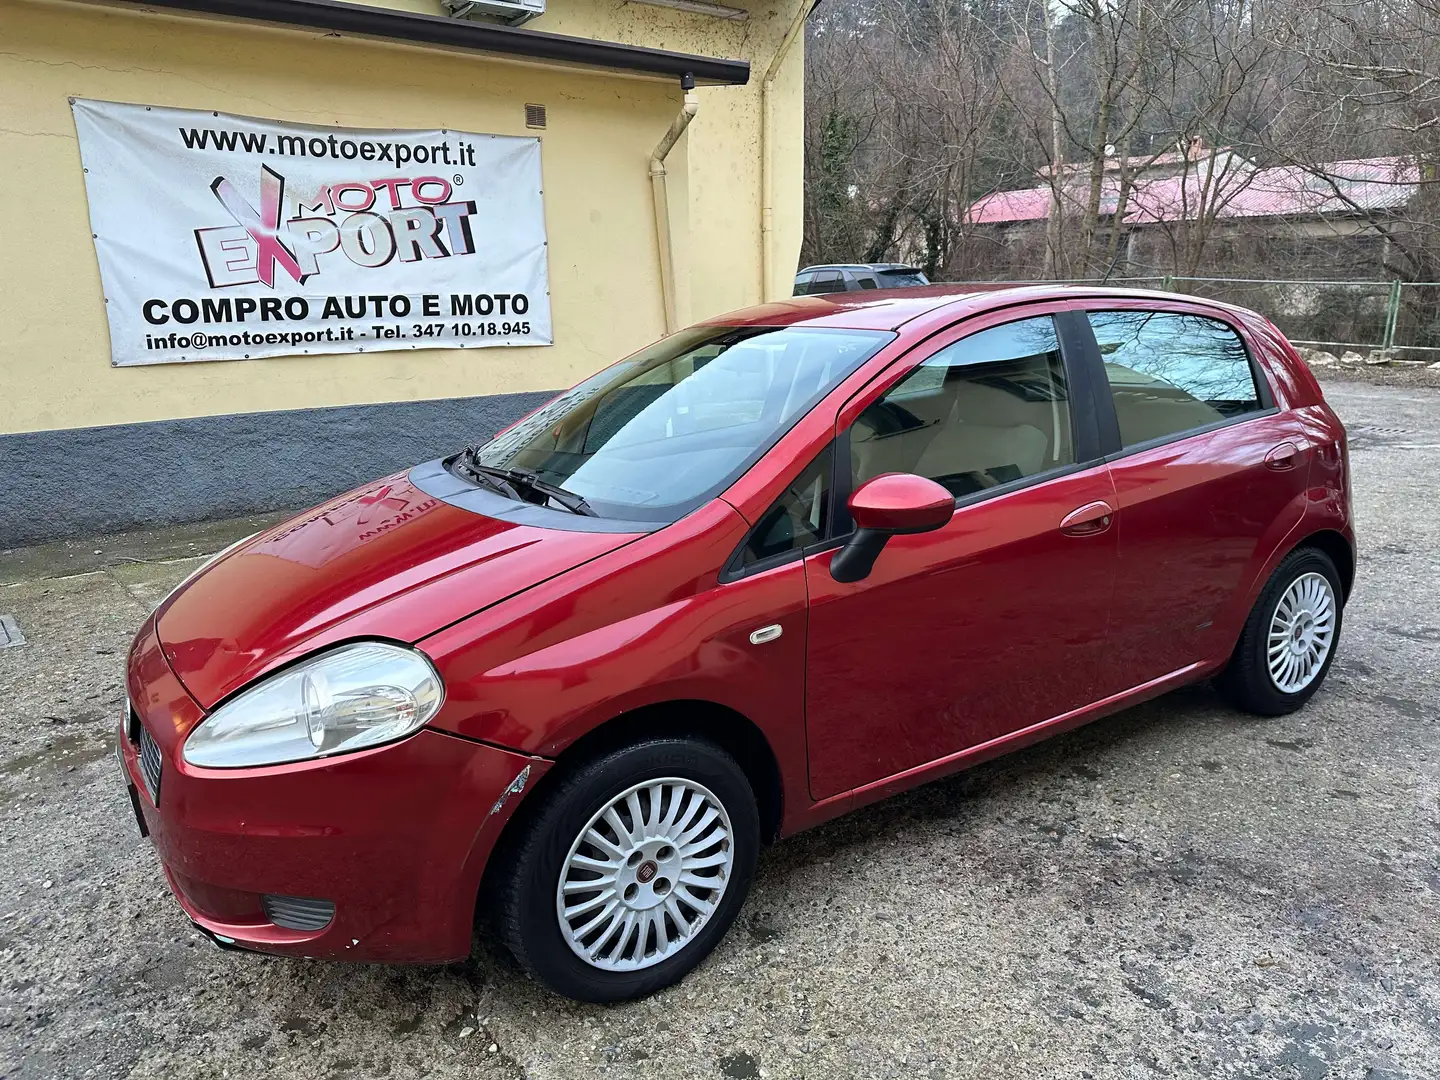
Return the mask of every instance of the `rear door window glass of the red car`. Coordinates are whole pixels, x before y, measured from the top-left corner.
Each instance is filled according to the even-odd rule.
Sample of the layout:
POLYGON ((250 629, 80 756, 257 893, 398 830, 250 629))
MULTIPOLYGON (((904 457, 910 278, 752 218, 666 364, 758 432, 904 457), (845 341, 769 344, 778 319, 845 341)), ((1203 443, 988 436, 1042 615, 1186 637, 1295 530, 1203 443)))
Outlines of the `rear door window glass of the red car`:
POLYGON ((1244 341, 1217 318, 1092 311, 1120 442, 1135 446, 1257 412, 1244 341))

